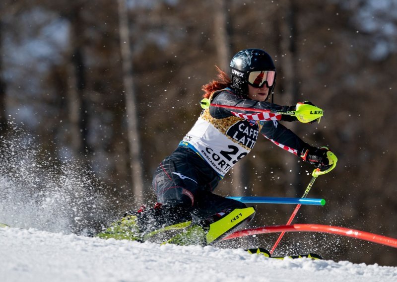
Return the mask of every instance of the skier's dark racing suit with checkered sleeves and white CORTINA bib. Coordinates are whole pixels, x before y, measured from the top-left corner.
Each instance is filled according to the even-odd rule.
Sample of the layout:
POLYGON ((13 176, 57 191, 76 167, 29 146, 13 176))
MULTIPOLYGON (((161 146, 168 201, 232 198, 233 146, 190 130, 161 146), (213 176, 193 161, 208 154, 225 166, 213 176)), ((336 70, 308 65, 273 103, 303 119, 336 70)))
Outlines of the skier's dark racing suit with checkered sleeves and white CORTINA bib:
MULTIPOLYGON (((214 92, 215 104, 256 109, 287 110, 268 102, 244 99, 230 88, 214 92)), ((153 176, 157 202, 190 207, 200 218, 245 204, 213 194, 225 174, 254 147, 259 133, 281 148, 299 155, 307 145, 279 121, 294 117, 252 113, 210 106, 202 111, 193 128, 176 150, 165 158, 153 176)))

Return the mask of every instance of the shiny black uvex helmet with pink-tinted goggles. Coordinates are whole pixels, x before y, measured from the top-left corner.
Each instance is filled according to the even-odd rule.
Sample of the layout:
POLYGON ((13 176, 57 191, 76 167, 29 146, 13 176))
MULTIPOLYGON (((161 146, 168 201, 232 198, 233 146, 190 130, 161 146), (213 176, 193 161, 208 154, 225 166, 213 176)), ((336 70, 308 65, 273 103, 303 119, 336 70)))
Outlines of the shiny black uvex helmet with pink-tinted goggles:
POLYGON ((269 94, 275 85, 276 67, 270 55, 261 49, 245 49, 230 62, 231 88, 247 96, 248 84, 262 87, 265 83, 269 94))

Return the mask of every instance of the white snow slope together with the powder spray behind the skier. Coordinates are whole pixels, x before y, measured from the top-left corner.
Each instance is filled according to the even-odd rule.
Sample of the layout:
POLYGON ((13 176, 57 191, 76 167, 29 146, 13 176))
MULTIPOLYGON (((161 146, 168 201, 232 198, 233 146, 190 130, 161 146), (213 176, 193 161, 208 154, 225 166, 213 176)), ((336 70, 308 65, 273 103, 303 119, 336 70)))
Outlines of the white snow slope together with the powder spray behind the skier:
MULTIPOLYGON (((0 282, 397 282, 397 267, 82 236, 120 218, 119 198, 109 198, 109 187, 92 182, 73 160, 40 161, 34 138, 19 135, 0 136, 0 223, 14 226, 0 228, 0 282)), ((314 252, 340 243, 323 236, 309 241, 314 252)))

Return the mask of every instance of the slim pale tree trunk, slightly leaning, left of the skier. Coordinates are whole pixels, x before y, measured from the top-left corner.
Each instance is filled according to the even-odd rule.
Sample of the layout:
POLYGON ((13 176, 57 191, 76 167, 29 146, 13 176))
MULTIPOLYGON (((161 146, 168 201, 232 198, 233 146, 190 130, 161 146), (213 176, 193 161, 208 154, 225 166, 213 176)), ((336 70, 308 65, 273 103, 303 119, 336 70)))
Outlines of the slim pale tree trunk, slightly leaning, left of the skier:
POLYGON ((132 79, 132 54, 130 47, 130 29, 126 0, 119 2, 120 48, 123 67, 123 83, 126 98, 128 139, 131 159, 132 187, 135 201, 143 199, 143 165, 140 157, 140 138, 138 130, 138 115, 135 102, 132 79))

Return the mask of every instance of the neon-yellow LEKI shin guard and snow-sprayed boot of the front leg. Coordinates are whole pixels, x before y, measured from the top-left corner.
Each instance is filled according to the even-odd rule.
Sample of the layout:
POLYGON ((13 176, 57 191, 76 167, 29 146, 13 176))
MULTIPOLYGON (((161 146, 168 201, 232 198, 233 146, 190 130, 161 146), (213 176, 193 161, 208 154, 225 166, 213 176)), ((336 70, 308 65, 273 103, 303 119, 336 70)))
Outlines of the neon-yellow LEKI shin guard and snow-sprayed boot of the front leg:
POLYGON ((218 212, 210 218, 192 223, 182 233, 172 237, 165 243, 177 245, 201 245, 214 244, 227 235, 243 228, 255 215, 253 207, 244 209, 227 209, 218 212))

